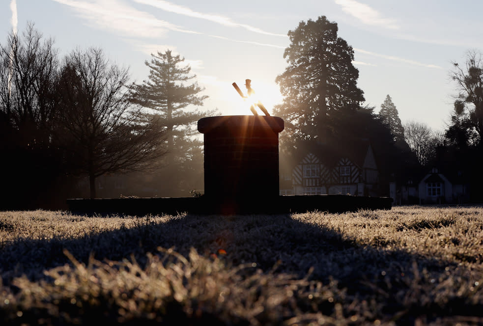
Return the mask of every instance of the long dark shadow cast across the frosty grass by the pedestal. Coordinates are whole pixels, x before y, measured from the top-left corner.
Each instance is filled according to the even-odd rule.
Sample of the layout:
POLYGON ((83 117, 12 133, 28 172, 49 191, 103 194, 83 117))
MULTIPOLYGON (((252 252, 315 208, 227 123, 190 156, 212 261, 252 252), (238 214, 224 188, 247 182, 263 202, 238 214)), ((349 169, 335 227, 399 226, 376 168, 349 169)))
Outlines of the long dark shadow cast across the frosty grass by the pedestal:
POLYGON ((174 247, 185 256, 194 247, 199 254, 217 255, 228 265, 256 263, 264 271, 277 267, 277 272, 297 277, 305 276, 312 267, 314 279, 327 282, 333 278, 349 290, 361 280, 384 279, 390 274, 409 275, 413 272, 413 261, 428 271, 450 265, 402 250, 363 246, 344 237, 342 230, 302 222, 290 215, 187 215, 166 223, 156 223, 149 217, 140 217, 138 221, 133 228, 120 225, 119 229, 78 239, 19 239, 3 245, 0 247, 3 282, 21 274, 30 279, 42 277, 44 270, 69 262, 63 250, 81 262, 87 262, 93 254, 98 260, 134 256, 142 264, 146 253, 156 252, 158 247, 174 247))

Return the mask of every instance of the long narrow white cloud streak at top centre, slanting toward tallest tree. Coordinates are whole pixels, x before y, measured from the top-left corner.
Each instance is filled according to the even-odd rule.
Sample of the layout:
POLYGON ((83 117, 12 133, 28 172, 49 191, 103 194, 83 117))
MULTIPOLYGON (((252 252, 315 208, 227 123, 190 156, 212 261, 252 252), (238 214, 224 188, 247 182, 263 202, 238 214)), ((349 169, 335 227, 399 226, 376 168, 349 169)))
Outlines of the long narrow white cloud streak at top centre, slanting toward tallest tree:
POLYGON ((267 32, 265 30, 262 30, 257 27, 253 27, 250 25, 246 24, 240 24, 232 21, 230 18, 225 17, 225 16, 220 16, 220 15, 213 15, 213 14, 207 14, 207 13, 202 13, 198 11, 194 11, 186 6, 181 6, 178 4, 171 3, 169 1, 164 1, 164 0, 135 0, 138 3, 142 4, 147 4, 150 6, 153 6, 155 8, 159 8, 165 11, 173 12, 179 15, 184 15, 188 17, 193 17, 193 18, 199 18, 199 19, 204 19, 213 23, 221 24, 224 26, 228 27, 242 27, 245 29, 248 29, 252 32, 260 33, 260 34, 265 34, 265 35, 273 35, 273 36, 285 36, 286 34, 277 34, 277 33, 271 33, 267 32))

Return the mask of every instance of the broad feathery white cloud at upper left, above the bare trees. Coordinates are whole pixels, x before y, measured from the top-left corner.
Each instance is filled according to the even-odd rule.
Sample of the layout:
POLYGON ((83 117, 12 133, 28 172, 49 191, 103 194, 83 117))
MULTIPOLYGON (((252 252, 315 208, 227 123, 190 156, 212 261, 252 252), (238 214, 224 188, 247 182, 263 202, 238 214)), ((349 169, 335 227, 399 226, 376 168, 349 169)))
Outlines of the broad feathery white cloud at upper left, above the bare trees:
POLYGON ((111 30, 125 36, 160 37, 167 30, 184 33, 197 31, 187 30, 162 21, 153 15, 123 4, 118 0, 54 0, 72 8, 85 19, 89 25, 111 30))

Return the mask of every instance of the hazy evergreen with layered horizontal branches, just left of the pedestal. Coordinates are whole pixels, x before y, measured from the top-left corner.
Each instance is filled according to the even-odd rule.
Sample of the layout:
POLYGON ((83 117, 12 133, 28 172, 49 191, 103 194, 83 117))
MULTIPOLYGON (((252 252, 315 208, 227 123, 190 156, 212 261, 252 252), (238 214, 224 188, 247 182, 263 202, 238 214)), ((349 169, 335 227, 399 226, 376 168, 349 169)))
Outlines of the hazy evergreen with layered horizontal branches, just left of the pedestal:
MULTIPOLYGON (((170 50, 151 56, 151 61, 145 62, 149 77, 142 84, 135 85, 132 101, 150 109, 150 114, 167 127, 168 153, 162 163, 165 168, 155 177, 158 179, 155 182, 163 184, 161 195, 174 195, 179 194, 174 191, 187 183, 183 180, 186 176, 183 170, 185 164, 191 163, 189 153, 192 147, 201 146, 192 137, 197 134, 193 126, 213 112, 201 112, 195 108, 202 106, 208 96, 200 95, 204 88, 198 85, 196 75, 191 74, 191 67, 183 64, 183 57, 170 50)), ((158 186, 155 188, 159 189, 158 186)))

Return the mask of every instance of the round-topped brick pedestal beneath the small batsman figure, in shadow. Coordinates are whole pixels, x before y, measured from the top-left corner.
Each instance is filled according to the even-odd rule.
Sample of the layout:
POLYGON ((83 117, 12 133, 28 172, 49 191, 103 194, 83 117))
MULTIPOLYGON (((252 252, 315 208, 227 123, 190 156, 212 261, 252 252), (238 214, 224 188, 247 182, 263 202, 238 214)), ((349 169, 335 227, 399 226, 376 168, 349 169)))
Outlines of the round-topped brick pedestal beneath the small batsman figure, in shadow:
POLYGON ((238 213, 279 197, 278 134, 284 120, 216 116, 200 119, 198 130, 204 134, 204 195, 209 202, 238 213))

